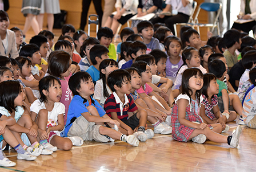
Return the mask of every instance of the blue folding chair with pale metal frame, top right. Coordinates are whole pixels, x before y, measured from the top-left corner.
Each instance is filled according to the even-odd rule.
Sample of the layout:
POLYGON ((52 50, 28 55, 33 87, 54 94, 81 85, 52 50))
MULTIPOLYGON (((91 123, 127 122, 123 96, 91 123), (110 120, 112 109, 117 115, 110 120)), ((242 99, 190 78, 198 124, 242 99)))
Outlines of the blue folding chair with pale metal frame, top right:
MULTIPOLYGON (((221 34, 219 30, 219 14, 221 14, 221 9, 222 9, 222 3, 221 2, 215 2, 215 3, 210 3, 210 2, 203 2, 200 4, 197 14, 195 15, 194 23, 191 24, 193 27, 197 27, 197 31, 200 34, 199 27, 211 27, 211 32, 214 31, 214 28, 217 27, 218 35, 221 34), (217 15, 215 17, 214 23, 199 23, 198 22, 198 15, 200 10, 203 9, 207 12, 217 12, 217 15)), ((190 25, 190 24, 189 24, 190 25)))

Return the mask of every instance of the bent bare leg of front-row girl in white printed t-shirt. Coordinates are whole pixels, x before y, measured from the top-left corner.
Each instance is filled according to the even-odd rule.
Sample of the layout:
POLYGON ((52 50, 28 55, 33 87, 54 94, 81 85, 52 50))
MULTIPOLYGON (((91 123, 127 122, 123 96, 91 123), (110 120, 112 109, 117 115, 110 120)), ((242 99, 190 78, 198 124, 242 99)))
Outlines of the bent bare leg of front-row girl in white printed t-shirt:
POLYGON ((57 135, 51 138, 50 144, 62 150, 70 150, 73 146, 69 138, 63 138, 57 135))

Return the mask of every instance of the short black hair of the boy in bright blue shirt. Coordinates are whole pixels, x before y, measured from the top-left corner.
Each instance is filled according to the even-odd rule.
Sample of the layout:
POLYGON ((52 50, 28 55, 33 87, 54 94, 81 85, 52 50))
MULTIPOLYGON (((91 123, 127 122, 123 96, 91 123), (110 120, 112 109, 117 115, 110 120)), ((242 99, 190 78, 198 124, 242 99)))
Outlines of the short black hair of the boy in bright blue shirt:
POLYGON ((81 88, 81 83, 91 79, 91 75, 87 72, 79 71, 72 75, 69 79, 69 88, 73 95, 79 95, 78 89, 81 88))

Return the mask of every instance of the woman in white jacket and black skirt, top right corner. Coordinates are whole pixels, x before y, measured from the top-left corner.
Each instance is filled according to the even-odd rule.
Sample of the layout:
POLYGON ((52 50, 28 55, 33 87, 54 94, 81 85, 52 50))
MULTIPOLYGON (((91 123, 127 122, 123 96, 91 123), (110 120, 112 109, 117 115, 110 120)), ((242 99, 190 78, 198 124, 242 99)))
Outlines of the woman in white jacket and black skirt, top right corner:
POLYGON ((234 23, 232 28, 247 33, 250 30, 253 30, 254 32, 256 28, 256 0, 241 0, 240 13, 237 18, 245 20, 253 19, 253 21, 246 23, 234 23))

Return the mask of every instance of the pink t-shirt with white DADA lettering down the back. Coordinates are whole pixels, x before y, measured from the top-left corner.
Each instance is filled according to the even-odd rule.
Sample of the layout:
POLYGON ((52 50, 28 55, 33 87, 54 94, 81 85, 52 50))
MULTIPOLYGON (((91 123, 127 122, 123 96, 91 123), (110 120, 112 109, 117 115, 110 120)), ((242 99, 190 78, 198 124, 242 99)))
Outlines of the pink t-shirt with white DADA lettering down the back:
POLYGON ((62 88, 62 96, 61 96, 61 103, 65 105, 65 116, 64 116, 64 124, 66 125, 67 121, 67 112, 69 111, 69 104, 72 100, 72 92, 69 89, 69 79, 72 73, 70 73, 69 76, 64 77, 65 80, 60 80, 61 81, 61 88, 62 88))

